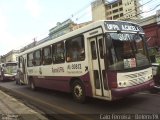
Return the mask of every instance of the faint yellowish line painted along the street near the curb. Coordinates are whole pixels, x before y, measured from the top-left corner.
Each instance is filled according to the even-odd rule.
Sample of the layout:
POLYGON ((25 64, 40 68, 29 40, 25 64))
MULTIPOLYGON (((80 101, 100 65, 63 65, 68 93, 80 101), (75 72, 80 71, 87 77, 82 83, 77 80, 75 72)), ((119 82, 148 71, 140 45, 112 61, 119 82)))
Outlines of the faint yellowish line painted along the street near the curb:
POLYGON ((39 102, 39 103, 42 103, 42 104, 51 106, 51 107, 53 107, 53 108, 56 108, 56 109, 58 109, 58 110, 60 110, 60 111, 64 111, 64 112, 66 112, 66 113, 68 113, 68 114, 76 115, 77 117, 79 117, 79 118, 81 118, 81 119, 83 119, 83 120, 92 120, 91 118, 87 118, 87 117, 82 116, 82 115, 77 115, 75 112, 72 112, 72 111, 70 111, 70 110, 67 110, 67 109, 65 109, 65 108, 63 108, 63 107, 59 107, 59 106, 57 106, 57 105, 55 105, 55 104, 46 103, 45 101, 42 101, 42 100, 37 99, 37 98, 33 98, 32 96, 23 94, 23 93, 18 92, 18 91, 14 91, 14 92, 16 92, 16 93, 18 93, 18 94, 20 94, 20 95, 23 95, 23 96, 25 96, 25 97, 28 97, 29 99, 32 99, 32 100, 37 101, 37 102, 39 102))

